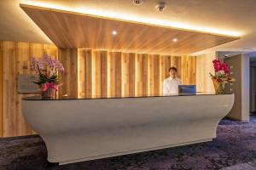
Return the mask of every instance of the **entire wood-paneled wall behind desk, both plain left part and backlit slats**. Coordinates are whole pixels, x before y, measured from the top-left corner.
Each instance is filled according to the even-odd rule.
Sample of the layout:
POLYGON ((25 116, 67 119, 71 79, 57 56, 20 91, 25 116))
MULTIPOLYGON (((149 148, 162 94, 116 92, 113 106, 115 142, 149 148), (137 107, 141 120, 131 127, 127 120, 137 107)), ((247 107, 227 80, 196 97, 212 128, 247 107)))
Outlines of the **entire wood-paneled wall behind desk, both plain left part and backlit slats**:
MULTIPOLYGON (((111 97, 162 94, 170 66, 176 66, 183 84, 195 84, 195 57, 173 57, 58 49, 53 45, 0 42, 0 137, 32 134, 24 121, 20 101, 35 94, 18 94, 17 76, 32 74, 30 57, 55 56, 65 67, 59 95, 111 97), (3 95, 2 95, 2 94, 3 95)), ((38 95, 38 94, 37 94, 38 95)))

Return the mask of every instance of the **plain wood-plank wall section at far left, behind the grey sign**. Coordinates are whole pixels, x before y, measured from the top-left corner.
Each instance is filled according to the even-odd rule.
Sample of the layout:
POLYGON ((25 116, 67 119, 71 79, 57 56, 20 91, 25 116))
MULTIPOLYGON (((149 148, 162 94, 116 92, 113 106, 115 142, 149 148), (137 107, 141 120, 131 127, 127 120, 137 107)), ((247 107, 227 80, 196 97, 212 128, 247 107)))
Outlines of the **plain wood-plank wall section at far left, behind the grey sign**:
MULTIPOLYGON (((22 97, 35 94, 18 94, 17 76, 19 74, 32 74, 30 71, 30 57, 42 57, 44 54, 55 56, 57 48, 53 45, 26 43, 26 42, 0 42, 1 70, 3 69, 3 102, 1 111, 3 137, 32 134, 30 127, 24 121, 20 101, 22 97)), ((1 72, 2 73, 2 72, 1 72)), ((1 83, 2 84, 2 83, 1 83)), ((1 112, 0 112, 1 113, 1 112)), ((0 121, 1 121, 0 118, 0 121)), ((0 136, 1 137, 1 136, 0 136)))

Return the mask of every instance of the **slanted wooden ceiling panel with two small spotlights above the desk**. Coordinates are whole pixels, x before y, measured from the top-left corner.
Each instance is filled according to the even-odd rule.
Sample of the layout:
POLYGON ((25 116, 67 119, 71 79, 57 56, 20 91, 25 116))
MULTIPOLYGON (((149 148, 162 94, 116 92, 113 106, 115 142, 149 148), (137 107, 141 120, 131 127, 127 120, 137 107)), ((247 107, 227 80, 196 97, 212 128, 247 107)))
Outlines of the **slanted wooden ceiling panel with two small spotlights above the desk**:
POLYGON ((94 48, 147 54, 192 54, 239 37, 113 20, 28 5, 20 7, 58 48, 94 48), (116 36, 112 31, 117 31, 116 36), (177 42, 172 39, 177 38, 177 42))

